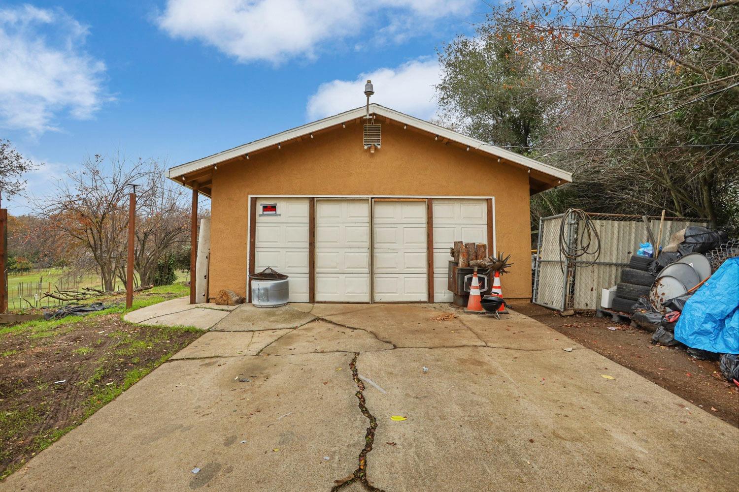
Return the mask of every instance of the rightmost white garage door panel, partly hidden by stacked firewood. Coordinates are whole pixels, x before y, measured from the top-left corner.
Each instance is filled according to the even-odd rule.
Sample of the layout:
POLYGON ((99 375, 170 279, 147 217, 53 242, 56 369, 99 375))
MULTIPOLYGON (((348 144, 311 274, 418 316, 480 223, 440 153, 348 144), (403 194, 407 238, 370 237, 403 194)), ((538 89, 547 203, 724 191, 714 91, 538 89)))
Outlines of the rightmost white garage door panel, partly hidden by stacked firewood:
POLYGON ((449 248, 454 241, 487 243, 488 213, 486 200, 434 198, 434 301, 451 302, 446 288, 449 248))

